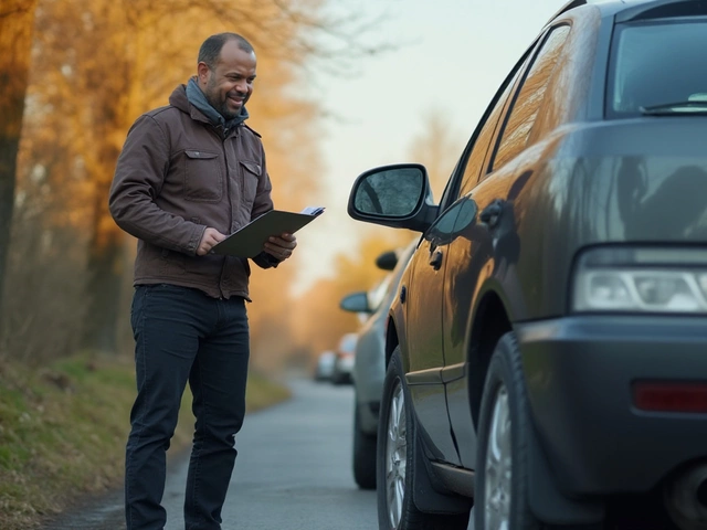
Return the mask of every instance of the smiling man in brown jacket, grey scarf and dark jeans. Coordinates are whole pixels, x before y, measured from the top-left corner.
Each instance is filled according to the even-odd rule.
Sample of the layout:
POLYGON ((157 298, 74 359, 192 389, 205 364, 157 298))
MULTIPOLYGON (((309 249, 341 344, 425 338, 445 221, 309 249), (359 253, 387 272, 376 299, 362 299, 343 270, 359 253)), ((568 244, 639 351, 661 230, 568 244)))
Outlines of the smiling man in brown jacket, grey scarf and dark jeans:
MULTIPOLYGON (((161 530, 166 451, 187 381, 197 417, 187 478, 187 530, 221 528, 245 413, 247 259, 213 246, 272 210, 260 135, 245 124, 255 53, 235 33, 204 41, 197 76, 169 105, 140 116, 118 158, 109 208, 138 239, 130 319, 137 399, 126 448, 128 530, 161 530)), ((288 258, 296 239, 270 239, 253 258, 288 258)))

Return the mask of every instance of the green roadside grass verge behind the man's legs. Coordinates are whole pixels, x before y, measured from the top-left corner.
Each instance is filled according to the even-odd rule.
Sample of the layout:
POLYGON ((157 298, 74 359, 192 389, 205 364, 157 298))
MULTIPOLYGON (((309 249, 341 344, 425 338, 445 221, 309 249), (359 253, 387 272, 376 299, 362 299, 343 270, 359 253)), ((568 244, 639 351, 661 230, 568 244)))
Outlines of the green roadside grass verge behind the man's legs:
MULTIPOLYGON (((119 487, 134 398, 129 359, 77 357, 41 370, 0 363, 0 528, 39 528, 85 496, 119 487)), ((251 372, 249 411, 288 398, 251 372)), ((170 453, 189 444, 192 428, 187 390, 170 453)))

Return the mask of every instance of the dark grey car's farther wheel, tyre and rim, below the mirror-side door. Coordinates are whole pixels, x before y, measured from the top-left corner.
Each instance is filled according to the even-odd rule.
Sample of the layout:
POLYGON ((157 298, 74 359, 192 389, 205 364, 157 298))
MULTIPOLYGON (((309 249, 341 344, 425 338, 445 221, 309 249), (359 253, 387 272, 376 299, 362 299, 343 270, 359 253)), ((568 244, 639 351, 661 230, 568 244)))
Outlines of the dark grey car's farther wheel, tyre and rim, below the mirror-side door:
MULTIPOLYGON (((440 515, 420 511, 412 498, 414 477, 426 473, 416 468, 415 452, 421 451, 416 426, 404 384, 400 347, 386 372, 378 423, 376 470, 378 478, 379 530, 466 530, 468 515, 440 515)), ((418 455, 419 456, 419 455, 418 455)), ((423 464, 424 465, 424 464, 423 464)))

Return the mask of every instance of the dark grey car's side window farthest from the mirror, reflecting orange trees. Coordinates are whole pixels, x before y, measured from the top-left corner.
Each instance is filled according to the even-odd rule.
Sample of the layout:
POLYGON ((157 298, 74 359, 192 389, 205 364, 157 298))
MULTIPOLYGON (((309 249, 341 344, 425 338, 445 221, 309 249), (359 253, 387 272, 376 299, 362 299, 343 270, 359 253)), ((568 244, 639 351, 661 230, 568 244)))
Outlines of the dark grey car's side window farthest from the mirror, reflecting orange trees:
POLYGON ((569 33, 569 25, 553 28, 542 43, 506 118, 492 169, 499 168, 525 149, 569 33))

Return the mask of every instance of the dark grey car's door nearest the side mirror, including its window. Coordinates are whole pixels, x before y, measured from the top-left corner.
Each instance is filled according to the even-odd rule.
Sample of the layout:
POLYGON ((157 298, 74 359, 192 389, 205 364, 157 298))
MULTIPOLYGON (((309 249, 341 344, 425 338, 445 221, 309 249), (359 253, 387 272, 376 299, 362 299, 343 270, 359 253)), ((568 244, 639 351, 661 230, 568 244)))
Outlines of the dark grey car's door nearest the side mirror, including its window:
POLYGON ((458 223, 467 222, 469 215, 475 219, 473 202, 458 200, 460 188, 472 180, 472 176, 474 183, 477 181, 503 110, 528 54, 529 52, 508 75, 472 135, 442 197, 442 214, 423 235, 404 285, 407 348, 410 359, 408 388, 414 402, 419 427, 424 433, 429 448, 435 453, 436 458, 454 465, 461 465, 461 460, 446 413, 446 389, 442 371, 445 365, 444 322, 449 320, 450 311, 454 310, 449 300, 443 298, 449 246, 456 236, 455 227, 458 227, 458 223))

